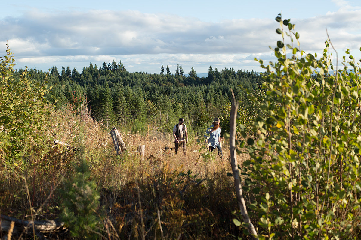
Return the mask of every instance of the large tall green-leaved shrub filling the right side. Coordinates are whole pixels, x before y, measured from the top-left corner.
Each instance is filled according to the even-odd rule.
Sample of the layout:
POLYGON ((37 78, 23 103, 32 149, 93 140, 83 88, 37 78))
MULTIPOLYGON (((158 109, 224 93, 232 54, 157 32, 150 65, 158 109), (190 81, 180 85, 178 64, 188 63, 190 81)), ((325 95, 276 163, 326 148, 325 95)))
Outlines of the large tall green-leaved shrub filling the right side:
POLYGON ((323 55, 305 54, 290 19, 276 21, 278 60, 258 60, 267 90, 253 98, 258 137, 240 144, 251 155, 242 174, 252 222, 260 239, 359 239, 360 63, 343 56, 338 69, 330 40, 323 55))

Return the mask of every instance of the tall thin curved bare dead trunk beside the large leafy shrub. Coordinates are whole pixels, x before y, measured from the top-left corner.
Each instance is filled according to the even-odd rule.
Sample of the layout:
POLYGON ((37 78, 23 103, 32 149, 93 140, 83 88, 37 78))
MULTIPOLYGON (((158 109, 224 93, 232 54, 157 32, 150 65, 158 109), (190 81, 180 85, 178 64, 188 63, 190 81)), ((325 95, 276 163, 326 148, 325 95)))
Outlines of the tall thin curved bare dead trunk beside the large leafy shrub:
POLYGON ((249 219, 247 213, 246 204, 243 198, 242 185, 239 178, 237 153, 236 153, 236 119, 237 119, 238 102, 234 97, 234 93, 232 89, 231 92, 232 92, 232 108, 231 108, 231 116, 229 121, 229 125, 230 125, 229 146, 231 151, 231 166, 234 177, 234 183, 236 186, 236 195, 237 195, 237 200, 241 211, 241 215, 243 218, 243 222, 245 222, 248 225, 247 226, 248 232, 249 234, 251 234, 251 236, 253 236, 253 239, 258 239, 258 235, 255 230, 255 227, 253 226, 251 219, 249 219))

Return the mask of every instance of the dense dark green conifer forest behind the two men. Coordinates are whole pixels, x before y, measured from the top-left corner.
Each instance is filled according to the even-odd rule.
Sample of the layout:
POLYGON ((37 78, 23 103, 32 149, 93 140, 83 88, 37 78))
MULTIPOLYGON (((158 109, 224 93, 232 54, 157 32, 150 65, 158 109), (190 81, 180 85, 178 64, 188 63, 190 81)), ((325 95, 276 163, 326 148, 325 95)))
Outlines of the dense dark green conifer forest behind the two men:
MULTIPOLYGON (((207 77, 197 77, 193 68, 186 77, 179 64, 175 74, 170 74, 168 65, 164 71, 162 65, 159 74, 131 73, 121 61, 114 60, 104 62, 100 68, 90 63, 82 73, 70 67, 62 67, 59 73, 57 67, 52 67, 46 81, 53 88, 46 98, 57 108, 69 107, 74 112, 85 100, 92 117, 106 128, 140 121, 156 123, 158 130, 169 131, 179 117, 188 118, 188 124, 196 128, 217 116, 224 118, 223 128, 227 130, 230 90, 243 106, 251 108, 244 89, 257 92, 262 83, 259 73, 233 68, 218 71, 210 66, 207 77)), ((22 72, 19 69, 15 75, 22 72)), ((29 73, 36 82, 44 81, 47 74, 36 68, 29 73)))

